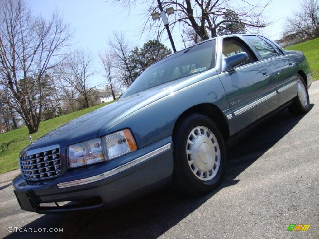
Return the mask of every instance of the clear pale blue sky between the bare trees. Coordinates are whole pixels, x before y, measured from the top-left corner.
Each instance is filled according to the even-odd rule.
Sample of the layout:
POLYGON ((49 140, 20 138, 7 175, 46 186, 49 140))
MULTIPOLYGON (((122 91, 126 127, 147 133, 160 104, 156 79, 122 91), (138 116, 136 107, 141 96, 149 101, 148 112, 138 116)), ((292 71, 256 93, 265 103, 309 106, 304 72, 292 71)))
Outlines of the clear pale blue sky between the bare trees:
MULTIPOLYGON (((259 2, 266 1, 261 0, 259 2)), ((286 17, 291 16, 293 11, 298 10, 299 4, 300 0, 274 0, 267 11, 272 24, 264 28, 261 34, 270 37, 272 40, 279 39, 286 17)), ((145 8, 143 4, 137 4, 130 12, 123 9, 122 6, 110 4, 104 0, 30 0, 29 5, 34 15, 41 14, 44 17, 49 17, 54 9, 60 10, 61 15, 65 15, 65 21, 70 23, 71 28, 75 30, 73 47, 92 50, 95 60, 94 67, 99 70, 98 52, 108 47, 107 41, 112 37, 113 31, 123 31, 132 46, 143 45, 146 40, 153 38, 146 35, 141 38, 138 32, 144 22, 144 18, 141 16, 145 8)), ((172 34, 176 49, 182 49, 183 44, 179 29, 174 28, 172 34)), ((167 47, 171 48, 166 37, 167 34, 164 33, 162 41, 167 47)), ((102 75, 92 76, 90 81, 92 86, 105 84, 102 75)))

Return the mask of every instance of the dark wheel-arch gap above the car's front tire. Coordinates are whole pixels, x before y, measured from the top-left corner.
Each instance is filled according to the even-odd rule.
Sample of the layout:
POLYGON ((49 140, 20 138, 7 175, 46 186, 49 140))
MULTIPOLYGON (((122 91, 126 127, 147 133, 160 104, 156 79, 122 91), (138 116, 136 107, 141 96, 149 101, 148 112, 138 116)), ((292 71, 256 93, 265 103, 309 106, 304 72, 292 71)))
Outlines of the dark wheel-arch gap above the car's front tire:
POLYGON ((191 114, 203 114, 209 117, 211 120, 215 122, 217 127, 220 130, 220 133, 222 134, 224 141, 227 141, 229 138, 229 126, 226 121, 226 118, 223 114, 223 112, 219 109, 217 105, 211 104, 211 103, 203 103, 203 104, 198 104, 194 105, 184 112, 177 118, 175 124, 174 124, 174 129, 173 129, 173 134, 177 130, 177 126, 180 125, 182 120, 184 120, 187 116, 191 114))

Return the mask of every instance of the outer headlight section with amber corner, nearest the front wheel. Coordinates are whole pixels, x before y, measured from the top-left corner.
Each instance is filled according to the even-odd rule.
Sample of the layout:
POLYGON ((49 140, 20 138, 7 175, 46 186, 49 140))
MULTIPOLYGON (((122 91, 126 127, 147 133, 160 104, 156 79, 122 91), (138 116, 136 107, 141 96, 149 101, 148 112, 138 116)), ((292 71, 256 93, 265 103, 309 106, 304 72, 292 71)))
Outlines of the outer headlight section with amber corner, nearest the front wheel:
POLYGON ((108 160, 117 158, 137 149, 133 135, 129 129, 124 129, 103 137, 106 143, 108 160))

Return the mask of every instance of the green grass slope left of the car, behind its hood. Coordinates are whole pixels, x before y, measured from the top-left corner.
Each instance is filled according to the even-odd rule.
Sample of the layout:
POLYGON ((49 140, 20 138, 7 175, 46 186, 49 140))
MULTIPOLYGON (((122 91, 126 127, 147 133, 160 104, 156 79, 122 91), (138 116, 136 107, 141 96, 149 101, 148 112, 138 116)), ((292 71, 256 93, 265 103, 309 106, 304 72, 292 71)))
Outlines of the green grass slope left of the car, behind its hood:
MULTIPOLYGON (((42 135, 52 131, 53 129, 64 125, 65 123, 78 118, 79 116, 96 110, 104 105, 108 105, 114 101, 95 105, 93 107, 79 110, 70 114, 65 114, 51 120, 40 123, 38 132, 31 134, 33 140, 40 138, 42 135)), ((0 134, 0 173, 9 172, 18 169, 18 156, 20 150, 30 144, 28 140, 29 131, 27 127, 0 134)))

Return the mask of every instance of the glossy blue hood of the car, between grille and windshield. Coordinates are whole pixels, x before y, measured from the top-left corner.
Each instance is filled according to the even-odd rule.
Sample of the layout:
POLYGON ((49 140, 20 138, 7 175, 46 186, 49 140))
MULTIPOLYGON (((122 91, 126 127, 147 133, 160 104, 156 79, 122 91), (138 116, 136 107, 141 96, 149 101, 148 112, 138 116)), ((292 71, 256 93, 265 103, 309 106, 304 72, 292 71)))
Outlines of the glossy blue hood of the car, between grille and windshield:
POLYGON ((121 98, 112 104, 82 115, 63 126, 56 128, 50 133, 43 135, 33 142, 33 144, 24 148, 23 151, 56 144, 60 145, 60 147, 64 147, 111 133, 111 126, 116 124, 116 122, 126 115, 129 115, 145 105, 151 104, 157 99, 167 96, 178 89, 203 79, 207 77, 207 75, 211 76, 212 73, 215 75, 216 70, 211 69, 210 71, 206 71, 206 73, 184 77, 142 91, 135 95, 121 98))

